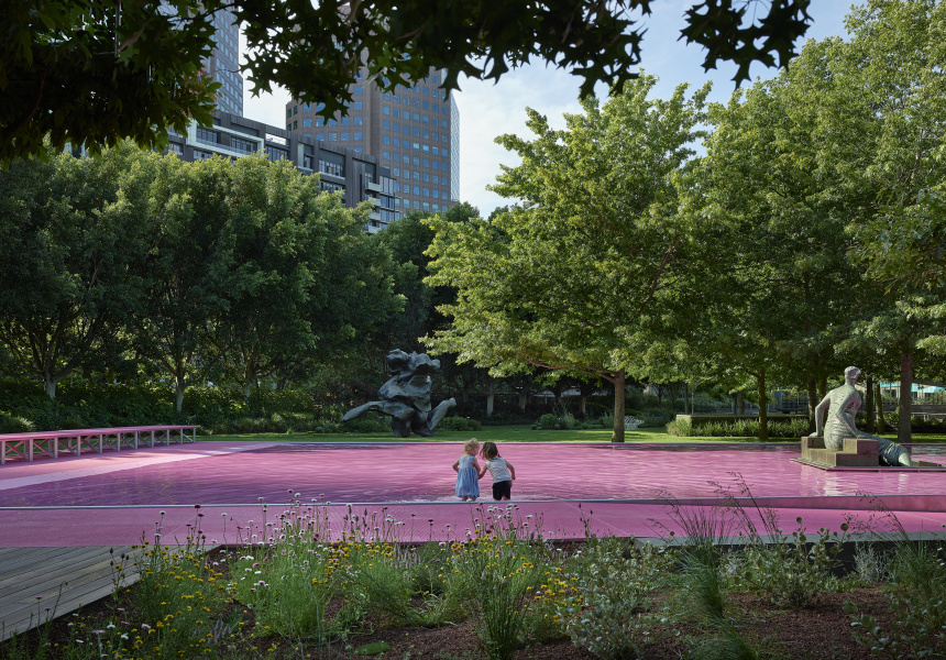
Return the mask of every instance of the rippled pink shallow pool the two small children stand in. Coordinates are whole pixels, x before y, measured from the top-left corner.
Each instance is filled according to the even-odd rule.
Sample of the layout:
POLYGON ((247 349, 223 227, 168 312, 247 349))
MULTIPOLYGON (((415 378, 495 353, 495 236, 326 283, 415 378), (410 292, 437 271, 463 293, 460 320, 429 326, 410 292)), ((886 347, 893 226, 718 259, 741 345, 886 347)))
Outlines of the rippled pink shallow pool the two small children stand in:
MULTIPOLYGON (((915 446, 913 454, 946 465, 944 450, 915 446)), ((459 443, 198 443, 8 464, 0 507, 282 503, 296 493, 334 504, 447 503, 455 502, 451 465, 461 451, 459 443)), ((712 498, 741 480, 760 498, 922 499, 913 510, 946 502, 946 472, 826 472, 793 462, 795 446, 508 442, 501 452, 515 465, 517 501, 712 498)), ((487 499, 491 483, 481 481, 487 499)))

